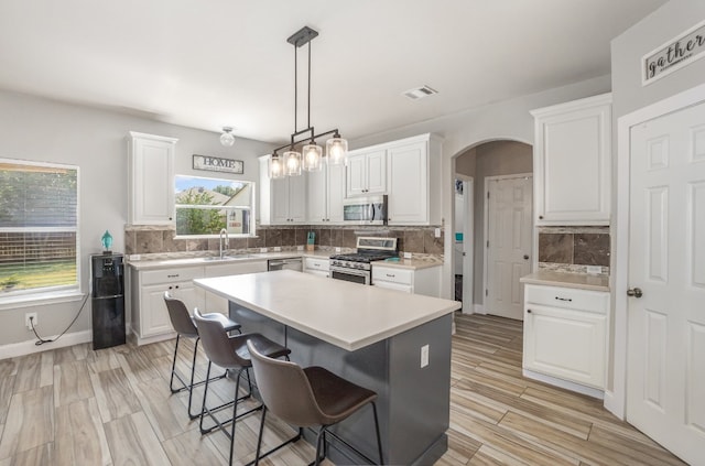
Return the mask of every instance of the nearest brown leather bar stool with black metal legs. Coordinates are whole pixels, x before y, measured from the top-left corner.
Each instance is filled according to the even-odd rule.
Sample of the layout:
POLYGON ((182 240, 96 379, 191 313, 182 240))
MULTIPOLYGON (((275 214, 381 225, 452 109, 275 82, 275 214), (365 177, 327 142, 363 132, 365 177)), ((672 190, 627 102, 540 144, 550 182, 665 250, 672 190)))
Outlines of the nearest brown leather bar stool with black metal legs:
POLYGON ((316 466, 327 455, 326 435, 335 437, 366 462, 373 464, 372 459, 362 452, 329 431, 330 426, 346 420, 368 403, 372 405, 375 414, 379 464, 383 464, 382 441, 379 434, 377 404, 375 403, 376 392, 345 380, 322 367, 314 366, 302 369, 295 362, 268 357, 250 343, 248 343, 248 348, 257 387, 264 403, 257 441, 256 465, 261 457, 260 446, 268 410, 282 421, 300 429, 319 426, 314 462, 316 466), (321 455, 322 451, 323 456, 321 455))

